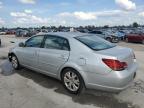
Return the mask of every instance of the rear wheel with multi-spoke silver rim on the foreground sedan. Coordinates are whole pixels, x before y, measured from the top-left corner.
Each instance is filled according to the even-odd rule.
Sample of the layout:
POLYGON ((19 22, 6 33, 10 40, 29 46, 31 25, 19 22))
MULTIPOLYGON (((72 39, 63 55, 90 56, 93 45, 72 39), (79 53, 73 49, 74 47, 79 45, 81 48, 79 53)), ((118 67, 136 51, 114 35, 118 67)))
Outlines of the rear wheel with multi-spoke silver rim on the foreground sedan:
POLYGON ((63 71, 62 82, 71 94, 79 94, 85 90, 83 78, 74 69, 67 68, 63 71))

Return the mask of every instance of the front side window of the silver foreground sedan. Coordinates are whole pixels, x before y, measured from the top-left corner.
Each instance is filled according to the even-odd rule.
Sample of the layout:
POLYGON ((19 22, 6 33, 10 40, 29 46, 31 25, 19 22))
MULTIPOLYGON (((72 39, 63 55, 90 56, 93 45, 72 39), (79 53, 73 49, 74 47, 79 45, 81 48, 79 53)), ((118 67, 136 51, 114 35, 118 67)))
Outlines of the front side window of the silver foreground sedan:
POLYGON ((35 36, 25 42, 25 47, 37 47, 41 46, 44 36, 35 36))

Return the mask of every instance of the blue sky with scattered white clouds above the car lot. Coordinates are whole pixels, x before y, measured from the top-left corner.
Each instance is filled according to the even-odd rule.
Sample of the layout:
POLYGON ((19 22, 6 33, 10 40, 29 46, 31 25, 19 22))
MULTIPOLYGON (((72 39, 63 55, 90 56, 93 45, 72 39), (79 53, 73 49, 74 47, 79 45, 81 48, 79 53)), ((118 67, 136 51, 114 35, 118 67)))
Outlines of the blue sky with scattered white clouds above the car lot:
POLYGON ((0 0, 0 27, 144 24, 144 0, 0 0))

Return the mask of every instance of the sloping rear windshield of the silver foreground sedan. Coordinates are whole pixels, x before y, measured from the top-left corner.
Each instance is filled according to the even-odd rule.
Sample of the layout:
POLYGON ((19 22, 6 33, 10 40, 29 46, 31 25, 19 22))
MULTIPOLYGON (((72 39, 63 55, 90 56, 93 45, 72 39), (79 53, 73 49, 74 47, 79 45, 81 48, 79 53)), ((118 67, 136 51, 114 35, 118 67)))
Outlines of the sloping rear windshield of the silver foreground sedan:
POLYGON ((116 46, 115 44, 110 43, 95 35, 79 36, 75 38, 80 42, 82 42, 83 44, 85 44, 86 46, 88 46, 89 48, 96 51, 109 49, 116 46))

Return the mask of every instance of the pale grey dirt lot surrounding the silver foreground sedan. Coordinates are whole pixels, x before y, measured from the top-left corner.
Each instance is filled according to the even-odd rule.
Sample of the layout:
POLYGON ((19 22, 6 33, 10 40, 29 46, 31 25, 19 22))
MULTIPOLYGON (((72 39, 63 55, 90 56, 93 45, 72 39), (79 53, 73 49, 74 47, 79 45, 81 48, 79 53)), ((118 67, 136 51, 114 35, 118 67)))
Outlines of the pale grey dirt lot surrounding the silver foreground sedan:
POLYGON ((139 69, 130 88, 119 94, 86 90, 70 95, 60 81, 23 68, 14 71, 6 59, 14 36, 0 36, 0 108, 144 108, 144 45, 120 42, 134 49, 139 69))

